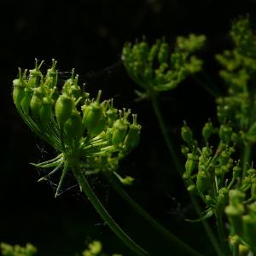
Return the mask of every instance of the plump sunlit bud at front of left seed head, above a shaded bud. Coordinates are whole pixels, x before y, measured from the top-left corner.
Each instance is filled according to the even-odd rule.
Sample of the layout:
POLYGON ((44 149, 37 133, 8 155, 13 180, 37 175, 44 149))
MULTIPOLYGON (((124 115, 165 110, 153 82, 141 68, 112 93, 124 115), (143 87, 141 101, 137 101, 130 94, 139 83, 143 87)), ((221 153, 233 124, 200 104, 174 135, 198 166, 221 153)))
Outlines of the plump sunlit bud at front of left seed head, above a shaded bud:
POLYGON ((58 97, 55 103, 55 115, 60 127, 70 118, 73 109, 74 101, 72 97, 67 96, 66 94, 62 94, 58 97))

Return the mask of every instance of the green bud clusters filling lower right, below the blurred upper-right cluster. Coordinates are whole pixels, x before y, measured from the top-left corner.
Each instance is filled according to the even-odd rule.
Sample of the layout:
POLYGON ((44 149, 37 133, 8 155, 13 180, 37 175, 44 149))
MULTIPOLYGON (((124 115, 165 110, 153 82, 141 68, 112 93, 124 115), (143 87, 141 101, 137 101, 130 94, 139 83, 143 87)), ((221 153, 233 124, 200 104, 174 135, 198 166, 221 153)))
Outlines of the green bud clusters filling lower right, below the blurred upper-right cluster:
MULTIPOLYGON (((206 205, 203 218, 229 220, 230 244, 243 250, 256 252, 256 170, 247 167, 242 173, 241 160, 234 160, 237 148, 236 133, 229 125, 213 128, 208 122, 202 129, 206 144, 203 147, 193 137, 188 125, 183 125, 181 135, 187 146, 183 180, 189 192, 201 197, 206 205), (209 139, 218 134, 219 143, 215 150, 209 139)), ((246 165, 247 166, 247 165, 246 165)))

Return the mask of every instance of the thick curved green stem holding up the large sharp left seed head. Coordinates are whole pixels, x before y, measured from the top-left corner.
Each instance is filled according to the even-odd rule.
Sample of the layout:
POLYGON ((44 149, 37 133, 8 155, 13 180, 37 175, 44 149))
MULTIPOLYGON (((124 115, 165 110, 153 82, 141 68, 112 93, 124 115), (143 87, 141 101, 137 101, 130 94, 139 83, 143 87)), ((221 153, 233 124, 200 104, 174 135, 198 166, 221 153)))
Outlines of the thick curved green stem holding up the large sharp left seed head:
POLYGON ((116 236, 121 239, 127 247, 140 256, 149 255, 142 247, 137 245, 137 243, 131 240, 124 230, 122 230, 119 225, 113 220, 113 218, 109 215, 107 210, 102 206, 102 203, 98 200, 93 190, 90 188, 90 184, 87 179, 84 177, 84 174, 79 166, 79 160, 76 158, 68 159, 69 166, 71 166, 73 170, 73 174, 79 182, 79 185, 84 191, 84 194, 88 197, 93 207, 95 207, 96 212, 100 214, 102 219, 108 224, 109 228, 113 230, 116 236))

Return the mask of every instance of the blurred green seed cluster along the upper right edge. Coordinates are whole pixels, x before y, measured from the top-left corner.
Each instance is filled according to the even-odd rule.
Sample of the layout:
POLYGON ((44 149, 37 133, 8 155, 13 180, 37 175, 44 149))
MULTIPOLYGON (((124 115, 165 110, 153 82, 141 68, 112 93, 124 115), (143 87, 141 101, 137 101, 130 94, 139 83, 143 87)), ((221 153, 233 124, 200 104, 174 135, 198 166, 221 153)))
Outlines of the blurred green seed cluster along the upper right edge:
MULTIPOLYGON (((228 89, 228 96, 217 99, 218 119, 223 123, 228 117, 237 131, 248 131, 256 121, 255 113, 251 113, 255 103, 256 40, 248 17, 233 23, 230 36, 234 48, 216 55, 224 67, 219 74, 228 89)), ((252 131, 249 141, 251 135, 252 131)), ((256 141, 255 135, 253 141, 256 141)))

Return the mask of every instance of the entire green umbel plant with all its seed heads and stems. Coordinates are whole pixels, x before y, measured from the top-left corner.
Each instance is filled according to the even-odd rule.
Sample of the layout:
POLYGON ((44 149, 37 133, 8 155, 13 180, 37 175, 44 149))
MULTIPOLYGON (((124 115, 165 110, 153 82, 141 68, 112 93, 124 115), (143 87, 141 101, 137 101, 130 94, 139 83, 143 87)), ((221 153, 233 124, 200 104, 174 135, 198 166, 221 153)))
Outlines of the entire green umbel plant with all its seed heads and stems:
MULTIPOLYGON (((203 224, 218 255, 256 255, 256 171, 252 163, 256 143, 256 34, 248 17, 233 22, 230 37, 234 48, 216 56, 223 67, 219 74, 226 84, 225 95, 220 95, 217 87, 201 83, 196 76, 203 64, 195 56, 205 44, 203 35, 178 37, 173 47, 165 39, 149 45, 143 38, 137 44, 125 44, 122 60, 131 79, 143 90, 137 91, 138 100, 151 102, 177 172, 183 177, 199 214, 198 219, 188 221, 203 224), (209 120, 202 127, 201 142, 184 123, 181 152, 186 160, 183 164, 180 150, 173 143, 173 135, 168 132, 160 111, 159 97, 161 92, 174 90, 189 76, 216 98, 218 124, 209 120), (211 226, 208 218, 215 218, 216 226, 211 226)), ((58 152, 53 160, 33 164, 53 169, 40 180, 61 172, 57 196, 67 172, 73 172, 81 190, 110 229, 133 253, 149 255, 150 252, 120 228, 90 188, 87 176, 102 172, 119 195, 170 241, 168 253, 177 247, 181 253, 201 255, 152 218, 122 187, 133 181, 132 177, 121 177, 118 169, 119 161, 139 143, 141 125, 137 124, 137 115, 132 114, 131 121, 130 109, 114 108, 113 99, 101 101, 101 90, 96 99, 91 98, 84 85, 79 85, 74 70, 71 78, 61 85, 56 61, 53 60, 45 74, 40 71, 42 64, 38 65, 36 60, 28 77, 26 70, 19 69, 13 93, 21 118, 58 152)), ((99 243, 96 245, 100 252, 99 243)), ((91 255, 88 252, 84 255, 91 255)))

